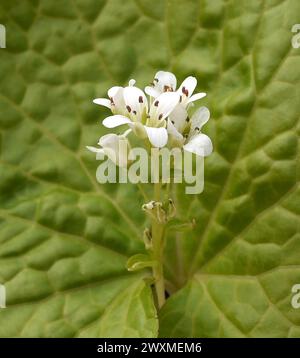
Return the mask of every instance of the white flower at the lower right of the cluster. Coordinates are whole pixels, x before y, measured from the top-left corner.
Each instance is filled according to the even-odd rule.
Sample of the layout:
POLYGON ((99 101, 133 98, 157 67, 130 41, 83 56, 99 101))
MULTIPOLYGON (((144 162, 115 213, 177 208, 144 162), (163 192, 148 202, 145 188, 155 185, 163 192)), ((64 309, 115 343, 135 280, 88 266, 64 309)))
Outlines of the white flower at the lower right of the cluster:
POLYGON ((212 142, 207 135, 201 133, 201 128, 210 117, 208 108, 200 107, 191 119, 183 108, 175 114, 168 119, 167 128, 171 144, 182 146, 183 150, 200 156, 210 155, 213 150, 212 142))

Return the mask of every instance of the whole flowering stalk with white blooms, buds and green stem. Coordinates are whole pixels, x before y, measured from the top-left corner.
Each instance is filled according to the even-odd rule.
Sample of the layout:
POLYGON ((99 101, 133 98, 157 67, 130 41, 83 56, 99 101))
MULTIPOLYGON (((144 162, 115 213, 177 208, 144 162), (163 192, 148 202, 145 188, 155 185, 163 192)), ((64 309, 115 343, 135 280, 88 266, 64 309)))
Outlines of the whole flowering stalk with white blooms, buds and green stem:
MULTIPOLYGON (((159 71, 144 91, 135 84, 135 80, 130 80, 127 87, 110 88, 107 92, 108 98, 94 99, 95 104, 105 106, 112 112, 112 115, 104 118, 102 122, 105 127, 129 128, 122 134, 106 134, 99 139, 99 147, 87 148, 97 154, 97 159, 104 159, 107 156, 110 165, 118 166, 119 174, 121 171, 127 171, 135 159, 128 153, 133 146, 134 137, 141 143, 141 147, 138 148, 139 153, 144 150, 148 154, 148 156, 141 156, 144 166, 138 169, 143 173, 138 175, 135 170, 134 177, 132 172, 130 177, 135 183, 153 184, 153 197, 142 206, 142 210, 151 222, 151 227, 145 228, 143 234, 147 254, 132 256, 127 262, 127 268, 129 271, 152 268, 156 301, 160 308, 165 302, 163 273, 165 234, 172 223, 177 223, 172 185, 179 182, 179 173, 185 172, 185 179, 191 177, 191 173, 186 172, 188 168, 192 170, 193 162, 190 159, 193 155, 202 159, 211 154, 212 142, 201 132, 203 125, 209 120, 210 113, 206 107, 196 110, 194 108, 195 102, 206 96, 206 93, 194 94, 197 86, 195 77, 187 77, 177 89, 175 75, 159 71), (190 157, 187 158, 186 153, 189 153, 190 157), (160 156, 167 156, 168 159, 172 157, 172 161, 166 166, 163 164, 164 161, 160 163, 160 156), (145 169, 149 160, 152 163, 151 179, 148 170, 145 169), (188 161, 189 165, 185 163, 188 161), (166 168, 168 173, 163 175, 166 168)), ((103 182, 98 176, 97 179, 103 182)))

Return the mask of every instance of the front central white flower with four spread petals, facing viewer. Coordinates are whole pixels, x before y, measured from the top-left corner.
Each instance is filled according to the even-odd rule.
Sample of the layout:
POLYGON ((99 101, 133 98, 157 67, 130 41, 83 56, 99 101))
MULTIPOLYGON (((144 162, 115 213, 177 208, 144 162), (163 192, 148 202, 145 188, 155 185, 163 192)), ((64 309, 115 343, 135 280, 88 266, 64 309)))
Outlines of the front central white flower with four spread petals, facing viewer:
POLYGON ((118 90, 118 96, 120 91, 124 100, 121 105, 119 105, 121 100, 118 101, 117 111, 120 114, 105 118, 103 125, 107 128, 115 128, 127 124, 136 133, 148 137, 154 147, 164 147, 168 141, 166 118, 179 102, 178 93, 162 93, 149 108, 148 100, 141 89, 128 86, 118 90))

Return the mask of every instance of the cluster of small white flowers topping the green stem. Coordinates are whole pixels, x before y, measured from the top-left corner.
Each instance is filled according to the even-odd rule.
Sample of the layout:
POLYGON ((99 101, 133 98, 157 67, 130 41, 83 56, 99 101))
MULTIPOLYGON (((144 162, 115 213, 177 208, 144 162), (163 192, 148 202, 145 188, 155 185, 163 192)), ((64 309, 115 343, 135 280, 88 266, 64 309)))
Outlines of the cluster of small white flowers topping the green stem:
POLYGON ((212 142, 201 133, 201 128, 209 120, 209 110, 200 107, 189 116, 194 102, 206 96, 206 93, 194 94, 196 85, 196 78, 189 76, 177 89, 175 75, 159 71, 144 91, 135 86, 135 80, 130 80, 127 87, 110 88, 108 98, 93 101, 109 108, 113 114, 105 118, 102 124, 107 128, 128 125, 129 129, 122 135, 111 133, 101 137, 98 143, 100 148, 87 148, 108 156, 114 153, 116 164, 122 166, 124 158, 118 150, 119 142, 127 140, 127 136, 133 132, 153 147, 179 147, 200 156, 208 156, 212 152, 212 142))

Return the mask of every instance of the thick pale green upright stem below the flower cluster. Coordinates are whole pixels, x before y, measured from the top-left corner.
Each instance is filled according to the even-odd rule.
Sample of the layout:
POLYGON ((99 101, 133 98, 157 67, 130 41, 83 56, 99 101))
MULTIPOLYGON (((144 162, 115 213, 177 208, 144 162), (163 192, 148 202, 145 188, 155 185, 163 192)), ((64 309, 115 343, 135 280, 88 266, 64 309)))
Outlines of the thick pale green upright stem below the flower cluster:
MULTIPOLYGON (((161 184, 154 184, 155 201, 160 201, 161 184)), ((164 248, 164 223, 152 220, 152 247, 153 258, 156 262, 153 267, 153 276, 155 280, 155 291, 157 295, 158 307, 161 308, 165 303, 165 282, 163 274, 163 248, 164 248)))

